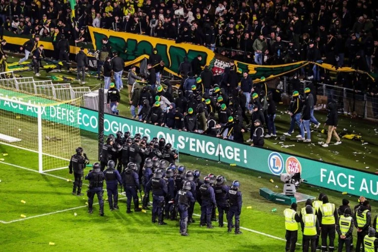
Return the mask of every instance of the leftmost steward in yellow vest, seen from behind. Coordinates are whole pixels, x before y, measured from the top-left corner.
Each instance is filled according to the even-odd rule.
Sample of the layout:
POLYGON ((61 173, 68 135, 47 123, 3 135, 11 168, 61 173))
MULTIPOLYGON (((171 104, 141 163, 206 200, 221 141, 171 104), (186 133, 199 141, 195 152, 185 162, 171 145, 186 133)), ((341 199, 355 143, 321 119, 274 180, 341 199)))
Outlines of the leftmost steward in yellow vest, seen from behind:
POLYGON ((296 241, 298 240, 298 224, 300 218, 296 212, 297 205, 293 203, 290 208, 284 210, 285 229, 286 229, 286 252, 294 252, 296 241))

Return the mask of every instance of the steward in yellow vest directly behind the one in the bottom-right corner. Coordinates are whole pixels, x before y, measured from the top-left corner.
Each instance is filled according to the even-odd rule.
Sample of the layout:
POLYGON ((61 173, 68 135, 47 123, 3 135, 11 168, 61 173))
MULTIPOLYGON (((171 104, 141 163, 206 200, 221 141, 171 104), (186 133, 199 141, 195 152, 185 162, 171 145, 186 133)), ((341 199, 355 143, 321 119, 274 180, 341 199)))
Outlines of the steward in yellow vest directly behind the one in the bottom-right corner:
POLYGON ((353 215, 354 226, 357 228, 356 252, 360 252, 361 245, 362 251, 364 251, 364 237, 368 235, 368 230, 372 221, 372 213, 370 209, 369 201, 363 199, 362 205, 355 210, 353 215))

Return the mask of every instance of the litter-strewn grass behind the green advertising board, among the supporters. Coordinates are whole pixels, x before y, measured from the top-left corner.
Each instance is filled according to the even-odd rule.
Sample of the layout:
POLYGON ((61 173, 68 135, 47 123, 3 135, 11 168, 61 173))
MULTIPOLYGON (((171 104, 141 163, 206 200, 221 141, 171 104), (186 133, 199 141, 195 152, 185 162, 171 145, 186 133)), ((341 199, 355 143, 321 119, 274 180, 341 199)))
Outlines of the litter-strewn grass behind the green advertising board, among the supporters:
MULTIPOLYGON (((10 58, 9 62, 15 61, 17 58, 10 58)), ((26 71, 19 73, 26 76, 33 76, 36 80, 46 80, 46 72, 41 70, 41 77, 35 77, 33 71, 26 71)), ((69 77, 75 77, 75 73, 68 74, 67 72, 53 73, 50 72, 47 75, 64 75, 69 77)), ((101 81, 96 80, 95 76, 87 77, 86 84, 91 88, 98 87, 101 81)), ((126 86, 126 80, 123 81, 126 86)), ((79 83, 74 81, 71 83, 73 86, 79 86, 79 83)), ((119 105, 120 115, 130 118, 130 105, 128 103, 127 88, 124 88, 121 91, 121 102, 119 105)), ((278 106, 278 112, 276 117, 276 128, 277 135, 281 136, 284 132, 287 132, 290 126, 290 116, 287 114, 282 114, 287 109, 287 106, 278 106), (281 113, 282 112, 282 113, 281 113)), ((324 112, 315 112, 315 117, 319 122, 325 122, 327 114, 324 112)), ((362 145, 360 141, 341 139, 341 145, 330 145, 328 148, 323 148, 318 145, 319 141, 325 141, 327 138, 326 134, 322 134, 320 130, 323 126, 320 126, 318 130, 311 132, 312 144, 299 142, 295 139, 295 135, 299 133, 299 128, 296 126, 294 133, 291 137, 287 137, 286 141, 281 141, 278 139, 265 139, 265 147, 284 151, 290 154, 308 157, 315 160, 320 158, 329 163, 336 165, 362 169, 368 172, 377 172, 376 166, 376 154, 378 153, 378 129, 377 123, 369 122, 360 119, 354 119, 347 116, 339 116, 339 125, 337 127, 338 132, 342 132, 344 129, 348 133, 355 131, 362 135, 362 138, 365 142, 368 142, 367 145, 362 145), (281 143, 280 142, 284 142, 281 143), (295 145, 289 148, 283 148, 282 145, 295 145)), ((244 139, 247 140, 250 136, 250 133, 245 133, 244 139)), ((331 143, 334 143, 335 139, 332 139, 331 143)))

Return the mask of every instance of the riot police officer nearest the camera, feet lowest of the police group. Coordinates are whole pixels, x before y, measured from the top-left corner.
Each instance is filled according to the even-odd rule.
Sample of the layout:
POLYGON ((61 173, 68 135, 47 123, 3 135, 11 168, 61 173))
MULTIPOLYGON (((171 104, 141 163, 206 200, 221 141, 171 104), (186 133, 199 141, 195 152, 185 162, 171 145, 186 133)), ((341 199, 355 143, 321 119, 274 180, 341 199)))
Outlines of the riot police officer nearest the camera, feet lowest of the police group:
POLYGON ((180 212, 180 233, 182 236, 188 236, 187 226, 188 226, 188 208, 191 203, 194 203, 192 193, 190 192, 191 183, 190 181, 185 181, 184 186, 178 191, 175 202, 177 202, 178 211, 180 212))

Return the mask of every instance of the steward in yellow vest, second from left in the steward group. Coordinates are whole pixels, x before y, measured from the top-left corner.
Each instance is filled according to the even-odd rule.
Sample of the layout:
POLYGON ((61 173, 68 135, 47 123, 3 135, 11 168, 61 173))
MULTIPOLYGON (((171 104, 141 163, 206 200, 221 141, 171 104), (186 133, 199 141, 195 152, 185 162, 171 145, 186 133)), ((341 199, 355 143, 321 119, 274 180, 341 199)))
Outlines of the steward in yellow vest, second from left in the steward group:
POLYGON ((306 206, 305 210, 306 212, 300 221, 303 233, 303 252, 308 252, 309 248, 311 248, 311 252, 316 252, 316 239, 320 234, 319 219, 311 206, 306 206))

